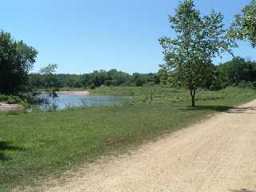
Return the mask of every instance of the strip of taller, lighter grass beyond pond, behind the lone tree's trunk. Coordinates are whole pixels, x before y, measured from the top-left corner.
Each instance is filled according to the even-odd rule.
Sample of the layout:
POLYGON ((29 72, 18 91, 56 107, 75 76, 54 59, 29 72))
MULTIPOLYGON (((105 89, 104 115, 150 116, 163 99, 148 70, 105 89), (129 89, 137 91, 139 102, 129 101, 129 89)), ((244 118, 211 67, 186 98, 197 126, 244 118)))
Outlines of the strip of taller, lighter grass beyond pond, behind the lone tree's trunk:
MULTIPOLYGON (((241 94, 251 94, 254 90, 238 89, 228 87, 225 90, 206 91, 198 90, 196 101, 213 101, 224 98, 235 98, 241 94), (246 90, 246 91, 245 91, 246 90)), ((90 90, 93 95, 115 95, 122 96, 126 100, 134 102, 145 102, 145 98, 153 97, 153 102, 190 102, 190 94, 186 90, 175 90, 161 86, 102 86, 95 90, 90 90)), ((147 99, 150 101, 150 99, 147 99)))

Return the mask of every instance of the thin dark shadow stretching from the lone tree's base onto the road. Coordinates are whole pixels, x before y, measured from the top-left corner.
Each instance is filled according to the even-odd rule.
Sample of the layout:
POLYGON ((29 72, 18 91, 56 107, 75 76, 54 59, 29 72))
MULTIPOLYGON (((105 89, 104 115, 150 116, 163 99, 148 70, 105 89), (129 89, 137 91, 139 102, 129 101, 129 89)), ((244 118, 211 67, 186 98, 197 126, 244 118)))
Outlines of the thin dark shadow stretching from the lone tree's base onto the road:
POLYGON ((181 110, 213 110, 217 112, 225 112, 228 114, 256 114, 256 107, 234 107, 234 106, 187 106, 181 110))

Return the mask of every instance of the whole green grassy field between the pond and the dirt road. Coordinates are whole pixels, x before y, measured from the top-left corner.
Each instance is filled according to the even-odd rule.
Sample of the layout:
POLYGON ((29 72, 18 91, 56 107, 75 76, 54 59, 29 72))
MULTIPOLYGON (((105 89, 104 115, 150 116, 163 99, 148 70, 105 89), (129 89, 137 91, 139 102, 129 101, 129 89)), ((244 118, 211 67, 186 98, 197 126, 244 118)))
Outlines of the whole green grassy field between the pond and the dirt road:
POLYGON ((92 94, 124 96, 125 102, 100 108, 0 114, 0 191, 37 185, 41 178, 58 177, 102 154, 126 152, 256 98, 254 90, 201 90, 198 107, 192 109, 184 90, 102 87, 92 94))

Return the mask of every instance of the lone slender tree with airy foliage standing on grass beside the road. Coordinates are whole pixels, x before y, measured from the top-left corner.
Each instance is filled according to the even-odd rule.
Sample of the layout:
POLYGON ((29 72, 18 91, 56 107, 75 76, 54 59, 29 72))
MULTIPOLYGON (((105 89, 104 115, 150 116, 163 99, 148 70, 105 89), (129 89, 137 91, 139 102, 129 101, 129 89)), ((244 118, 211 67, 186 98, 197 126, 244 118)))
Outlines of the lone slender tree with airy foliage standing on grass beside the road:
POLYGON ((192 0, 181 2, 175 11, 169 19, 176 37, 159 39, 166 61, 162 74, 168 74, 170 86, 190 90, 195 106, 196 90, 211 76, 212 58, 230 52, 234 42, 226 38, 222 14, 213 10, 202 17, 192 0))

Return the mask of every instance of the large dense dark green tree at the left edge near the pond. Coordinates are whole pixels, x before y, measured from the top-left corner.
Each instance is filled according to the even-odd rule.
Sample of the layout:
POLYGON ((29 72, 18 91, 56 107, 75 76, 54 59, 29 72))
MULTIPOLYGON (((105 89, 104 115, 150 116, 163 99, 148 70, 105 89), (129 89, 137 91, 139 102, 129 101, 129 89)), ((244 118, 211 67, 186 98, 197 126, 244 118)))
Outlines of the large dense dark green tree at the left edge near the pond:
POLYGON ((15 41, 10 33, 0 31, 0 93, 25 90, 37 54, 32 46, 15 41))

